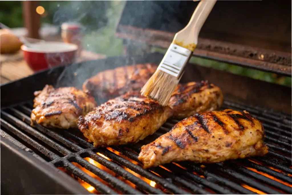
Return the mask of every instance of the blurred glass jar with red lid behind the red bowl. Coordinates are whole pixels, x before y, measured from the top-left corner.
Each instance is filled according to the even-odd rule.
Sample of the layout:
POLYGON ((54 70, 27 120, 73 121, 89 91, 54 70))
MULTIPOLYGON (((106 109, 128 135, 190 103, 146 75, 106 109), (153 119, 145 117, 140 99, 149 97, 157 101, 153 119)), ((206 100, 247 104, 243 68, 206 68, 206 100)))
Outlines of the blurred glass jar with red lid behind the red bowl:
POLYGON ((80 56, 83 44, 82 26, 79 23, 63 23, 61 25, 61 36, 65 43, 78 46, 77 55, 80 56))

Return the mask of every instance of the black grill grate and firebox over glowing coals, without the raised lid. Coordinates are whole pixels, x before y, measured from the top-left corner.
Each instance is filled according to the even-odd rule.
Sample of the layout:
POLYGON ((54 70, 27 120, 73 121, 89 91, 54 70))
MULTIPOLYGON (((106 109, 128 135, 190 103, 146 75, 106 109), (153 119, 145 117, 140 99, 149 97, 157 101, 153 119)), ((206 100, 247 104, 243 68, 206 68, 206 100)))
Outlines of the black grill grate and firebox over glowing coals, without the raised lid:
MULTIPOLYGON (((240 103, 239 98, 235 99, 226 93, 226 83, 230 83, 228 74, 222 77, 224 82, 211 80, 219 83, 226 94, 222 109, 247 110, 263 123, 265 142, 270 148, 264 157, 211 165, 170 163, 146 170, 137 158, 140 147, 169 131, 178 120, 168 120, 152 136, 137 144, 110 148, 94 148, 79 130, 51 130, 39 125, 30 126, 32 94, 45 84, 81 87, 80 84, 89 72, 94 75, 98 71, 125 64, 159 63, 162 57, 163 55, 155 53, 133 58, 110 57, 46 70, 0 86, 0 93, 7 94, 0 105, 0 191, 4 194, 72 195, 91 194, 90 192, 135 195, 292 194, 292 115, 240 103), (81 68, 84 66, 87 68, 81 68), (39 82, 32 85, 35 80, 39 82)), ((200 66, 189 64, 188 67, 199 72, 198 78, 208 78, 205 75, 214 77, 213 73, 205 74, 206 70, 200 66)), ((190 74, 193 75, 192 72, 190 74)), ((260 82, 260 86, 265 88, 265 82, 252 81, 260 82)), ((240 82, 242 84, 246 81, 240 79, 240 82)), ((246 84, 257 85, 251 85, 250 82, 246 84)), ((268 92, 274 90, 281 94, 281 90, 284 90, 288 93, 289 88, 271 86, 274 85, 268 84, 266 87, 268 92)), ((261 92, 262 96, 267 94, 265 90, 261 92)), ((265 102, 264 99, 259 101, 265 102)))

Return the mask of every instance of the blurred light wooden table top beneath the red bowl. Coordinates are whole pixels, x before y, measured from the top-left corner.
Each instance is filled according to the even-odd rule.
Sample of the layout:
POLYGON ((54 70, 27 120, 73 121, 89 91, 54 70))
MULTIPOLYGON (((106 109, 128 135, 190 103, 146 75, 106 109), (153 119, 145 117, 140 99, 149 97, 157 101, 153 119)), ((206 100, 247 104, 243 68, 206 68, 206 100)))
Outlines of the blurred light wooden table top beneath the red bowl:
MULTIPOLYGON (((105 58, 103 54, 82 51, 77 62, 105 58)), ((22 51, 13 55, 0 54, 0 85, 34 74, 23 59, 22 51)))

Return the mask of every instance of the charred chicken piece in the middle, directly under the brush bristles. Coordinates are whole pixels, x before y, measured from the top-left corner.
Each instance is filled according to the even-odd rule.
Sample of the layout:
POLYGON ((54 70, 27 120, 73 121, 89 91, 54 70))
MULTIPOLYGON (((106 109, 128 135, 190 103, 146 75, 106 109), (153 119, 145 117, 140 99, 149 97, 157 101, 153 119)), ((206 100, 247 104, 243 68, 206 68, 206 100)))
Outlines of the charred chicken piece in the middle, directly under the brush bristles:
POLYGON ((153 134, 172 115, 168 106, 129 92, 98 106, 77 125, 95 147, 135 143, 153 134))

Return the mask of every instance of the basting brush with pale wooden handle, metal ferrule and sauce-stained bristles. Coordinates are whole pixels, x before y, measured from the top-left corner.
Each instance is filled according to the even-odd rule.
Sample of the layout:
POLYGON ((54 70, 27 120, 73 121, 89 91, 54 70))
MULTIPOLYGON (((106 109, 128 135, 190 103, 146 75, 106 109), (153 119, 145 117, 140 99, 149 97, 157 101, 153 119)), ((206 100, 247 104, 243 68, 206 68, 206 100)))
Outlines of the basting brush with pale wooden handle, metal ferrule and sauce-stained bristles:
POLYGON ((198 43, 198 36, 217 0, 201 0, 187 26, 175 34, 155 73, 142 87, 141 94, 166 106, 183 76, 183 69, 198 43))

